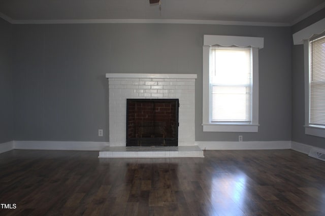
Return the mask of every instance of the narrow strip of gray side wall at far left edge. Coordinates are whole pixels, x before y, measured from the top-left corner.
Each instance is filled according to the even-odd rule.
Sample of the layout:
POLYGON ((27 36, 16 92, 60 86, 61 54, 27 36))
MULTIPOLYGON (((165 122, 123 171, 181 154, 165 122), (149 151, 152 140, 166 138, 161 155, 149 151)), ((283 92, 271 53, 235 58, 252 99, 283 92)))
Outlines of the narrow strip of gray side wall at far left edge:
POLYGON ((12 25, 0 18, 0 143, 12 141, 12 25))

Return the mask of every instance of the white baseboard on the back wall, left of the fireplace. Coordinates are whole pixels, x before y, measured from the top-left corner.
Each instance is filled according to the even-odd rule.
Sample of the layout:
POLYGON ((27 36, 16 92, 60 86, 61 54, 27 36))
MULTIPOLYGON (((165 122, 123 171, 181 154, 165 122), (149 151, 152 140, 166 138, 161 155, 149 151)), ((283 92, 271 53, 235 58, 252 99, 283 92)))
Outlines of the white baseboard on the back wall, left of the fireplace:
POLYGON ((100 151, 109 142, 92 141, 14 141, 14 149, 100 151))

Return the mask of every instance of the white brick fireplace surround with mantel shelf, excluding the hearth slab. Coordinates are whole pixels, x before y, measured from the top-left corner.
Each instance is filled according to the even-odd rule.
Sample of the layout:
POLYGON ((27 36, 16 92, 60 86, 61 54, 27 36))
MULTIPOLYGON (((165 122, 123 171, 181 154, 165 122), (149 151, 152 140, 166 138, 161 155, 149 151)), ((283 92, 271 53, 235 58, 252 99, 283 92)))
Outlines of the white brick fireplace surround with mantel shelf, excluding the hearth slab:
POLYGON ((127 98, 178 98, 178 146, 195 145, 196 74, 106 74, 111 147, 126 146, 127 98))

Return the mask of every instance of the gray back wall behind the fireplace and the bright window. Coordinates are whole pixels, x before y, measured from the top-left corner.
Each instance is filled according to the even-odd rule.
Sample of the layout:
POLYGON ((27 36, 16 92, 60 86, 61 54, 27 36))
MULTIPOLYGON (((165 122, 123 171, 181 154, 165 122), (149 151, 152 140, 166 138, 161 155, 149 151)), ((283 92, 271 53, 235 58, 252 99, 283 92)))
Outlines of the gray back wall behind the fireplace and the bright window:
POLYGON ((264 37, 261 126, 241 134, 244 140, 290 140, 290 28, 192 24, 14 25, 15 139, 109 141, 106 73, 179 73, 198 74, 196 140, 237 141, 239 133, 201 126, 204 34, 264 37))

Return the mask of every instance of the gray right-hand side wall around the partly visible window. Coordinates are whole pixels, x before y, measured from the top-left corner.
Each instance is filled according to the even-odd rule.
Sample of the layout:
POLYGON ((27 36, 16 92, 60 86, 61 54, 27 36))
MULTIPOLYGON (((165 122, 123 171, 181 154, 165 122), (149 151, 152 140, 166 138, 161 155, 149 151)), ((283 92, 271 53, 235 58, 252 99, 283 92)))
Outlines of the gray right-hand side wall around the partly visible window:
MULTIPOLYGON (((325 17, 325 8, 291 27, 295 33, 325 17)), ((325 148, 325 138, 305 134, 305 81, 304 81, 304 47, 292 46, 292 80, 293 80, 293 123, 292 137, 296 142, 325 148)))

